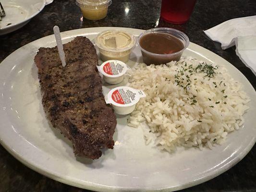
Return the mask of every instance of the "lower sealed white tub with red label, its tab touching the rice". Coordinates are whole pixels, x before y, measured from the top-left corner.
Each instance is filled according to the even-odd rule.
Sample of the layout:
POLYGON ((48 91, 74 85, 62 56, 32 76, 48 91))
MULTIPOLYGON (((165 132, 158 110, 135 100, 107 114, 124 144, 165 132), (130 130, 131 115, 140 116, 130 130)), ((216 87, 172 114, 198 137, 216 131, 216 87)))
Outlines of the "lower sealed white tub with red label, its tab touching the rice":
POLYGON ((111 104, 115 113, 127 115, 134 111, 136 103, 145 93, 132 87, 121 86, 111 89, 105 97, 106 103, 111 104))

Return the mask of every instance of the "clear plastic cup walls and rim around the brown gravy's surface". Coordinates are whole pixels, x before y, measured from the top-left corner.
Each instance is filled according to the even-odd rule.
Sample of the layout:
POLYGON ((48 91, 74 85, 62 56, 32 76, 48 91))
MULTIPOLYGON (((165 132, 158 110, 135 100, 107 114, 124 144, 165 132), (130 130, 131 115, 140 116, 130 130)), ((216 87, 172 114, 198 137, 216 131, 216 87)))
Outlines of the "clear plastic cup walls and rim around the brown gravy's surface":
POLYGON ((183 32, 181 32, 177 29, 172 29, 172 28, 160 27, 160 28, 149 29, 149 30, 141 33, 138 37, 138 46, 141 48, 141 54, 143 56, 143 61, 147 65, 165 64, 172 60, 180 60, 180 58, 183 54, 183 51, 188 47, 188 45, 189 45, 188 36, 186 36, 183 32), (157 53, 149 52, 140 46, 141 38, 149 33, 166 33, 166 34, 175 36, 182 41, 184 48, 180 51, 170 53, 170 54, 157 54, 157 53))

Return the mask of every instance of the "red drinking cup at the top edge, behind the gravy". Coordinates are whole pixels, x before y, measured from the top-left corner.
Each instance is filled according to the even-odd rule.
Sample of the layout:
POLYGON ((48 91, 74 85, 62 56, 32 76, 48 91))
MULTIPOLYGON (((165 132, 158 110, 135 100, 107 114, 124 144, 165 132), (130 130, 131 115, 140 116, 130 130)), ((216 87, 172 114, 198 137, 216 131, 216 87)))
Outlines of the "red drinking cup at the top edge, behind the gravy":
POLYGON ((162 0, 161 18, 172 24, 184 24, 189 20, 196 0, 162 0))

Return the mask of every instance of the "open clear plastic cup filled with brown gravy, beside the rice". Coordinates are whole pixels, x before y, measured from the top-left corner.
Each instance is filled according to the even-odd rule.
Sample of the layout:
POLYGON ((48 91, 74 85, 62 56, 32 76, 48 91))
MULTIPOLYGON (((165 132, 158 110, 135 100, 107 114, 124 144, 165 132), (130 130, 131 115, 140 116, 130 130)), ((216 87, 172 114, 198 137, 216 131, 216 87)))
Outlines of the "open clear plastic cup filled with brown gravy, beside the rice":
POLYGON ((161 27, 140 34, 138 45, 147 65, 165 64, 180 60, 189 45, 189 38, 179 30, 161 27))

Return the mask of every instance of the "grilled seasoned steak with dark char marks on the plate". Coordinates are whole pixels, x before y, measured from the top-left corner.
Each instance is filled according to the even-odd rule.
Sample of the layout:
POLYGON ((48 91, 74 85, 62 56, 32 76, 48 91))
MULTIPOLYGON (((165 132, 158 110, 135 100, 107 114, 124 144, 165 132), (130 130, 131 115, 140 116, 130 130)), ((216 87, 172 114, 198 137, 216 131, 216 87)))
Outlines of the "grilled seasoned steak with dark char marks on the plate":
POLYGON ((53 127, 73 142, 74 154, 97 159, 100 149, 113 148, 116 116, 102 94, 96 50, 83 36, 63 47, 65 67, 57 47, 39 48, 35 57, 42 104, 53 127))

